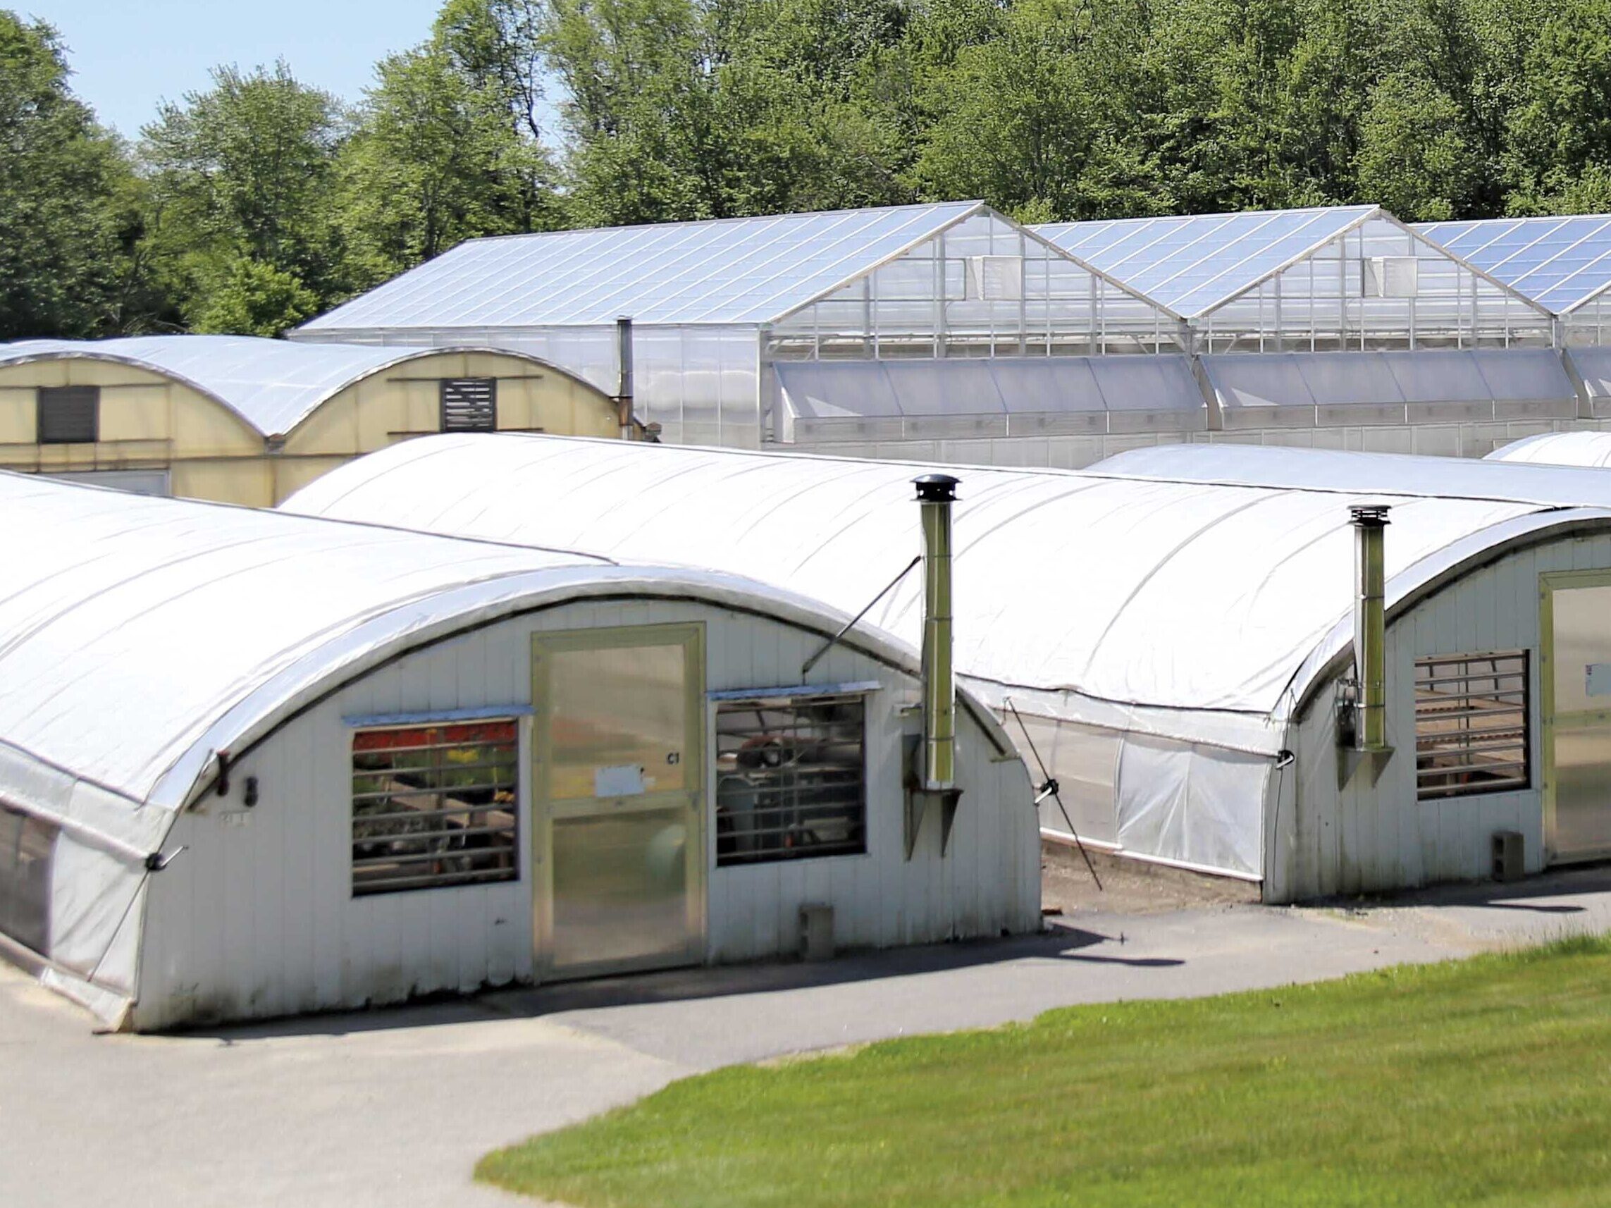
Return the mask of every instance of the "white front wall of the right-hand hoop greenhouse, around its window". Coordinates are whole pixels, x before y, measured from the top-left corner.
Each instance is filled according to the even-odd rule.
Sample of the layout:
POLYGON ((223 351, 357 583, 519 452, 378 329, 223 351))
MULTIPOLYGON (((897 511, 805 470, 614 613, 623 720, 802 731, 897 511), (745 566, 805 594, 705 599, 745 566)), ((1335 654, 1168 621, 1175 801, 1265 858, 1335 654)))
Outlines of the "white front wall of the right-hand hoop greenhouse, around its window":
POLYGON ((1266 792, 1265 900, 1481 879, 1489 875, 1489 842, 1497 829, 1521 831, 1527 870, 1543 868, 1539 575, 1603 567, 1611 567, 1611 536, 1551 541, 1506 554, 1397 617, 1387 627, 1387 741, 1394 755, 1374 784, 1360 770, 1337 788, 1334 685, 1321 685, 1289 736, 1297 763, 1271 776, 1266 792), (1414 660, 1489 651, 1529 656, 1532 786, 1416 801, 1414 660))

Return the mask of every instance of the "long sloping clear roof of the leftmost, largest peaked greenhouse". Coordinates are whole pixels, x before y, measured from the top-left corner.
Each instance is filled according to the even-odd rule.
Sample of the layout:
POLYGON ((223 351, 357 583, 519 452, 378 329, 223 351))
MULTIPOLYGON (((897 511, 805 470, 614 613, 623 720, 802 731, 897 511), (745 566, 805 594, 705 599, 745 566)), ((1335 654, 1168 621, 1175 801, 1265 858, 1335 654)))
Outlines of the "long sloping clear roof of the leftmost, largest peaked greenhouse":
POLYGON ((461 243, 314 319, 350 329, 767 322, 976 209, 973 201, 553 230, 461 243))

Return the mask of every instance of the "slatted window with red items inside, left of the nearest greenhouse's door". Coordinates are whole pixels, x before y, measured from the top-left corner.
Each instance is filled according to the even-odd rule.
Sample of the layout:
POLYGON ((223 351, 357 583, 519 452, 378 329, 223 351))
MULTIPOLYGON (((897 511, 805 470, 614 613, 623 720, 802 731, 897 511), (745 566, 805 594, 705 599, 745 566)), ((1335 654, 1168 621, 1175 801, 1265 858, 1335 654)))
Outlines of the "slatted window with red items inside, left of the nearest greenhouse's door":
POLYGON ((432 891, 432 889, 480 889, 485 886, 496 884, 512 884, 525 878, 525 854, 522 849, 522 841, 525 836, 525 820, 522 818, 524 801, 527 794, 527 768, 525 768, 525 741, 522 717, 527 712, 520 709, 514 710, 488 710, 485 714, 475 712, 474 715, 454 715, 451 710, 443 710, 441 715, 419 715, 406 714, 398 717, 374 717, 374 718, 350 718, 351 726, 348 739, 348 892, 353 900, 362 897, 382 897, 388 894, 432 891), (495 726, 507 726, 509 738, 504 741, 475 738, 474 731, 490 730, 495 726), (435 743, 417 743, 412 746, 401 744, 374 744, 367 749, 361 749, 364 743, 364 734, 408 734, 409 731, 417 731, 420 736, 429 738, 435 731, 445 731, 441 741, 435 743), (462 733, 470 731, 470 733, 462 733), (511 770, 509 780, 499 780, 491 775, 490 781, 482 784, 461 784, 453 786, 441 783, 441 773, 448 772, 448 763, 451 760, 446 752, 454 749, 467 747, 496 747, 498 752, 507 751, 507 755, 495 752, 483 762, 475 763, 459 763, 459 768, 504 768, 511 770), (359 780, 364 776, 383 775, 385 768, 361 768, 359 757, 375 752, 420 752, 432 751, 441 752, 429 768, 409 768, 404 767, 403 772, 422 772, 429 770, 437 773, 437 783, 425 783, 419 788, 404 789, 359 789, 359 780), (491 792, 491 799, 482 804, 456 804, 449 805, 453 801, 449 792, 454 789, 474 789, 477 792, 491 792), (504 799, 498 794, 504 792, 504 799), (359 813, 361 801, 387 801, 393 802, 396 797, 435 797, 435 805, 427 809, 408 809, 400 807, 395 810, 377 810, 372 815, 359 813), (491 823, 485 815, 499 813, 506 815, 507 821, 491 823), (462 825, 451 825, 449 818, 453 815, 464 815, 462 825), (477 818, 477 815, 482 815, 477 818), (430 820, 433 826, 424 831, 408 831, 398 828, 390 836, 387 831, 375 834, 359 834, 361 825, 367 820, 374 823, 375 818, 391 820, 391 821, 411 821, 411 820, 430 820), (359 849, 362 844, 371 847, 391 842, 391 844, 414 844, 422 839, 443 838, 451 839, 454 831, 462 831, 461 838, 485 836, 487 842, 483 847, 459 847, 448 849, 443 847, 437 852, 432 850, 409 850, 393 854, 388 858, 385 854, 367 854, 361 855, 359 849), (499 839, 503 842, 499 842, 499 839), (480 854, 490 854, 493 863, 490 867, 477 867, 477 858, 480 854), (359 873, 362 868, 385 868, 385 867, 420 867, 430 868, 433 863, 458 862, 459 867, 453 870, 438 870, 433 873, 424 873, 416 876, 377 876, 371 878, 371 883, 361 879, 359 873))

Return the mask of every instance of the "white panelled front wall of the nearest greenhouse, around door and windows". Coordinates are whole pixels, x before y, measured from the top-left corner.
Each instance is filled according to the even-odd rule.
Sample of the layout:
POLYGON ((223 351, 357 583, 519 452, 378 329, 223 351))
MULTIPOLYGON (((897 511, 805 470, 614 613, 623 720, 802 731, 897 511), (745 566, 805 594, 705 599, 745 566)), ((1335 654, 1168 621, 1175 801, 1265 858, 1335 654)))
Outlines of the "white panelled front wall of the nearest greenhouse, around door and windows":
MULTIPOLYGON (((522 725, 522 876, 516 883, 351 896, 351 754, 343 717, 532 701, 532 635, 702 620, 709 691, 799 680, 822 641, 791 625, 712 606, 570 604, 416 651, 288 723, 232 770, 227 799, 179 817, 164 844, 188 850, 150 879, 140 954, 140 1029, 398 1002, 532 978, 532 723, 522 725), (240 786, 256 776, 259 802, 240 786)), ((847 647, 814 683, 876 680, 868 697, 868 852, 715 868, 714 725, 706 759, 709 962, 791 954, 804 902, 834 907, 836 942, 880 947, 1039 926, 1039 839, 1017 759, 959 710, 965 788, 949 854, 925 820, 905 860, 899 734, 918 718, 912 675, 847 647)), ((714 720, 714 704, 709 705, 714 720)))

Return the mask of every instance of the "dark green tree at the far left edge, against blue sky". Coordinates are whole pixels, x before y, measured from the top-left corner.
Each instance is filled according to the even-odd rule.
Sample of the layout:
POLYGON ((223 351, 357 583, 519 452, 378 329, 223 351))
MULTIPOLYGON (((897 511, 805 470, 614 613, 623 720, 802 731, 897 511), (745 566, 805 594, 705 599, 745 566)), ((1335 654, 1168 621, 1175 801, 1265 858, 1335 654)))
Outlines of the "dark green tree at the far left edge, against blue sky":
POLYGON ((121 143, 68 87, 55 29, 0 11, 0 338, 118 327, 130 188, 121 143))

